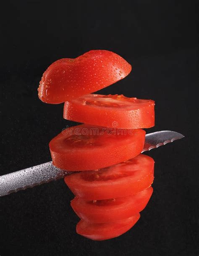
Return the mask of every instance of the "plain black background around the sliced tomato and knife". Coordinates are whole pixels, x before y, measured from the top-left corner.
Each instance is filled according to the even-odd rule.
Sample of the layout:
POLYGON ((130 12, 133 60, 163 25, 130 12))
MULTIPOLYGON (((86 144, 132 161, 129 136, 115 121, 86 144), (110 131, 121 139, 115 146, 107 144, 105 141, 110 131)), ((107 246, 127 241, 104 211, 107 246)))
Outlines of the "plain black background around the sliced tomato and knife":
MULTIPOLYGON (((2 153, 0 174, 50 161, 48 143, 66 125, 63 105, 37 97, 43 71, 59 58, 112 50, 133 66, 100 91, 156 101, 156 125, 182 140, 148 152, 154 193, 126 234, 97 242, 76 234, 63 180, 0 199, 0 256, 196 256, 196 1, 1 3, 2 153)), ((148 132, 149 132, 148 131, 148 132)))

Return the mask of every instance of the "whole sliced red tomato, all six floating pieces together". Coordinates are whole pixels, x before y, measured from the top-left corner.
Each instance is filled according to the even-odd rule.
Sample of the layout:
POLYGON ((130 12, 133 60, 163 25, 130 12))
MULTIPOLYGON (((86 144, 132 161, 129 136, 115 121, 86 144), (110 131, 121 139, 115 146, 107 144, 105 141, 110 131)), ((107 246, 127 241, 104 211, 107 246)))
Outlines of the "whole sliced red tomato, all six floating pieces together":
POLYGON ((65 183, 81 219, 76 231, 92 240, 114 238, 133 227, 153 192, 154 161, 141 151, 143 128, 154 126, 154 101, 88 94, 130 71, 119 55, 92 50, 52 63, 38 88, 42 101, 65 102, 65 119, 83 123, 63 130, 49 145, 53 164, 74 171, 65 183))

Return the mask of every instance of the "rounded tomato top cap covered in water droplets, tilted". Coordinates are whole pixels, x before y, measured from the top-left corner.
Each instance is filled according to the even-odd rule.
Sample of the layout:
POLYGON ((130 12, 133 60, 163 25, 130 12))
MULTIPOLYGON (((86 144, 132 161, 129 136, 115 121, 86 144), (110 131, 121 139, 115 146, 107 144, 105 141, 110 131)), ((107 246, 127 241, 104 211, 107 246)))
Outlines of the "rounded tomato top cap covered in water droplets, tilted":
POLYGON ((43 74, 38 95, 45 103, 58 104, 96 92, 130 72, 131 65, 118 54, 91 50, 77 58, 52 63, 43 74))

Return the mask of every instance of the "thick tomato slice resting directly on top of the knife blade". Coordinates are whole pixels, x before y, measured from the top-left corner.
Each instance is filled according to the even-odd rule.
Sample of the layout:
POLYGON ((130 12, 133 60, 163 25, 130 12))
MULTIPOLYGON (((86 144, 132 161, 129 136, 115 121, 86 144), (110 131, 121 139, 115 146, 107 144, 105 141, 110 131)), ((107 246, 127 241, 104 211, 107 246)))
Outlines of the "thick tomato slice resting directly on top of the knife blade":
POLYGON ((50 141, 53 164, 69 171, 104 168, 127 161, 144 146, 142 129, 107 129, 81 124, 70 127, 50 141))

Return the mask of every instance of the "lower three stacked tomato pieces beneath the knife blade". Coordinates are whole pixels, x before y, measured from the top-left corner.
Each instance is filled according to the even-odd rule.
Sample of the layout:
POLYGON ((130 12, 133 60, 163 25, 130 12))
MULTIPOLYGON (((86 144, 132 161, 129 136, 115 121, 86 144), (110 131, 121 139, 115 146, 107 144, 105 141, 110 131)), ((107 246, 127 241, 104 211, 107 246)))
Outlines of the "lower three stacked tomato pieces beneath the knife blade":
POLYGON ((65 183, 76 195, 71 206, 81 219, 77 233, 105 240, 129 230, 152 195, 153 179, 154 161, 142 154, 110 167, 66 176, 65 183))

